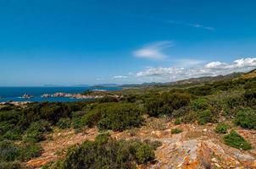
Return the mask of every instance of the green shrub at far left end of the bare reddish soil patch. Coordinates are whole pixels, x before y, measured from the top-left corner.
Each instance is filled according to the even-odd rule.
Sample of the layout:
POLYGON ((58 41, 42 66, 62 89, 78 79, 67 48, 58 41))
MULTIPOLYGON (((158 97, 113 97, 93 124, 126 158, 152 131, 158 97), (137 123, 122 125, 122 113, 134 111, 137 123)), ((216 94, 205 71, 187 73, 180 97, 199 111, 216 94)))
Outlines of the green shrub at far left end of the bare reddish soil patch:
POLYGON ((45 120, 40 120, 35 123, 31 123, 30 128, 25 131, 23 140, 25 142, 37 143, 45 139, 45 134, 52 130, 50 123, 45 120))

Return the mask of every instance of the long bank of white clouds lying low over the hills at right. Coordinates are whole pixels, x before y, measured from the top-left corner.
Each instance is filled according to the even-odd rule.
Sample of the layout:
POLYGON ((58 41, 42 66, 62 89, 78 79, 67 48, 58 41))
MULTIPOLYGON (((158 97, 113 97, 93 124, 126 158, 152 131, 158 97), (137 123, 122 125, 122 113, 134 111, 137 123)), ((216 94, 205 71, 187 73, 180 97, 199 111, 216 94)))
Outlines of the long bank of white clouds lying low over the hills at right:
POLYGON ((256 68, 256 57, 241 58, 232 63, 211 62, 194 68, 147 68, 147 70, 136 73, 136 78, 143 81, 168 82, 202 76, 246 72, 253 68, 256 68))

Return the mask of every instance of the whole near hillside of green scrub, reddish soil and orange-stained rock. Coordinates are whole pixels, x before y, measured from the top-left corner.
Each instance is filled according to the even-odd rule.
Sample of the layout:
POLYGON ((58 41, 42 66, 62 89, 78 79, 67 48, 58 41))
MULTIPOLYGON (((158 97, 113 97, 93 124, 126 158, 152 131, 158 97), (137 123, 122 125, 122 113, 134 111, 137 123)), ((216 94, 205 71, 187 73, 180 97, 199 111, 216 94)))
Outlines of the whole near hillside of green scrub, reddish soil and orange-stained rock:
POLYGON ((254 74, 2 105, 0 168, 256 168, 254 74))

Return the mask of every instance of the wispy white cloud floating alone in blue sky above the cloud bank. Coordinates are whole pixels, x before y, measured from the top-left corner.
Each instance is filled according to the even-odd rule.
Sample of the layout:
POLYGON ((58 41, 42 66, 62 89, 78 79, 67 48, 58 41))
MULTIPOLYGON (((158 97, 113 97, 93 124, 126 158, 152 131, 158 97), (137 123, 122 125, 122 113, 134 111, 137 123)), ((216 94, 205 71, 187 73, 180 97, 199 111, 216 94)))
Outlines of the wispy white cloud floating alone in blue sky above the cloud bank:
POLYGON ((163 53, 163 50, 170 46, 174 46, 172 41, 158 41, 136 50, 133 54, 135 57, 162 60, 167 57, 167 55, 163 53))

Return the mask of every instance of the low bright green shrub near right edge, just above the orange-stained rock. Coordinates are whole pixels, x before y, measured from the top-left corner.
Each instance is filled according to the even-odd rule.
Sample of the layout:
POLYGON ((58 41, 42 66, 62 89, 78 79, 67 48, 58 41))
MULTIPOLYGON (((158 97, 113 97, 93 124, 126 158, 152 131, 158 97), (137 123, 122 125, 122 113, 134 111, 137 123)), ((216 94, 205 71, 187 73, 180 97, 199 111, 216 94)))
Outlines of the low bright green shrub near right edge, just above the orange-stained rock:
POLYGON ((252 145, 249 144, 243 137, 237 134, 236 131, 232 130, 230 134, 224 136, 224 142, 231 147, 240 149, 240 150, 250 150, 252 145))

